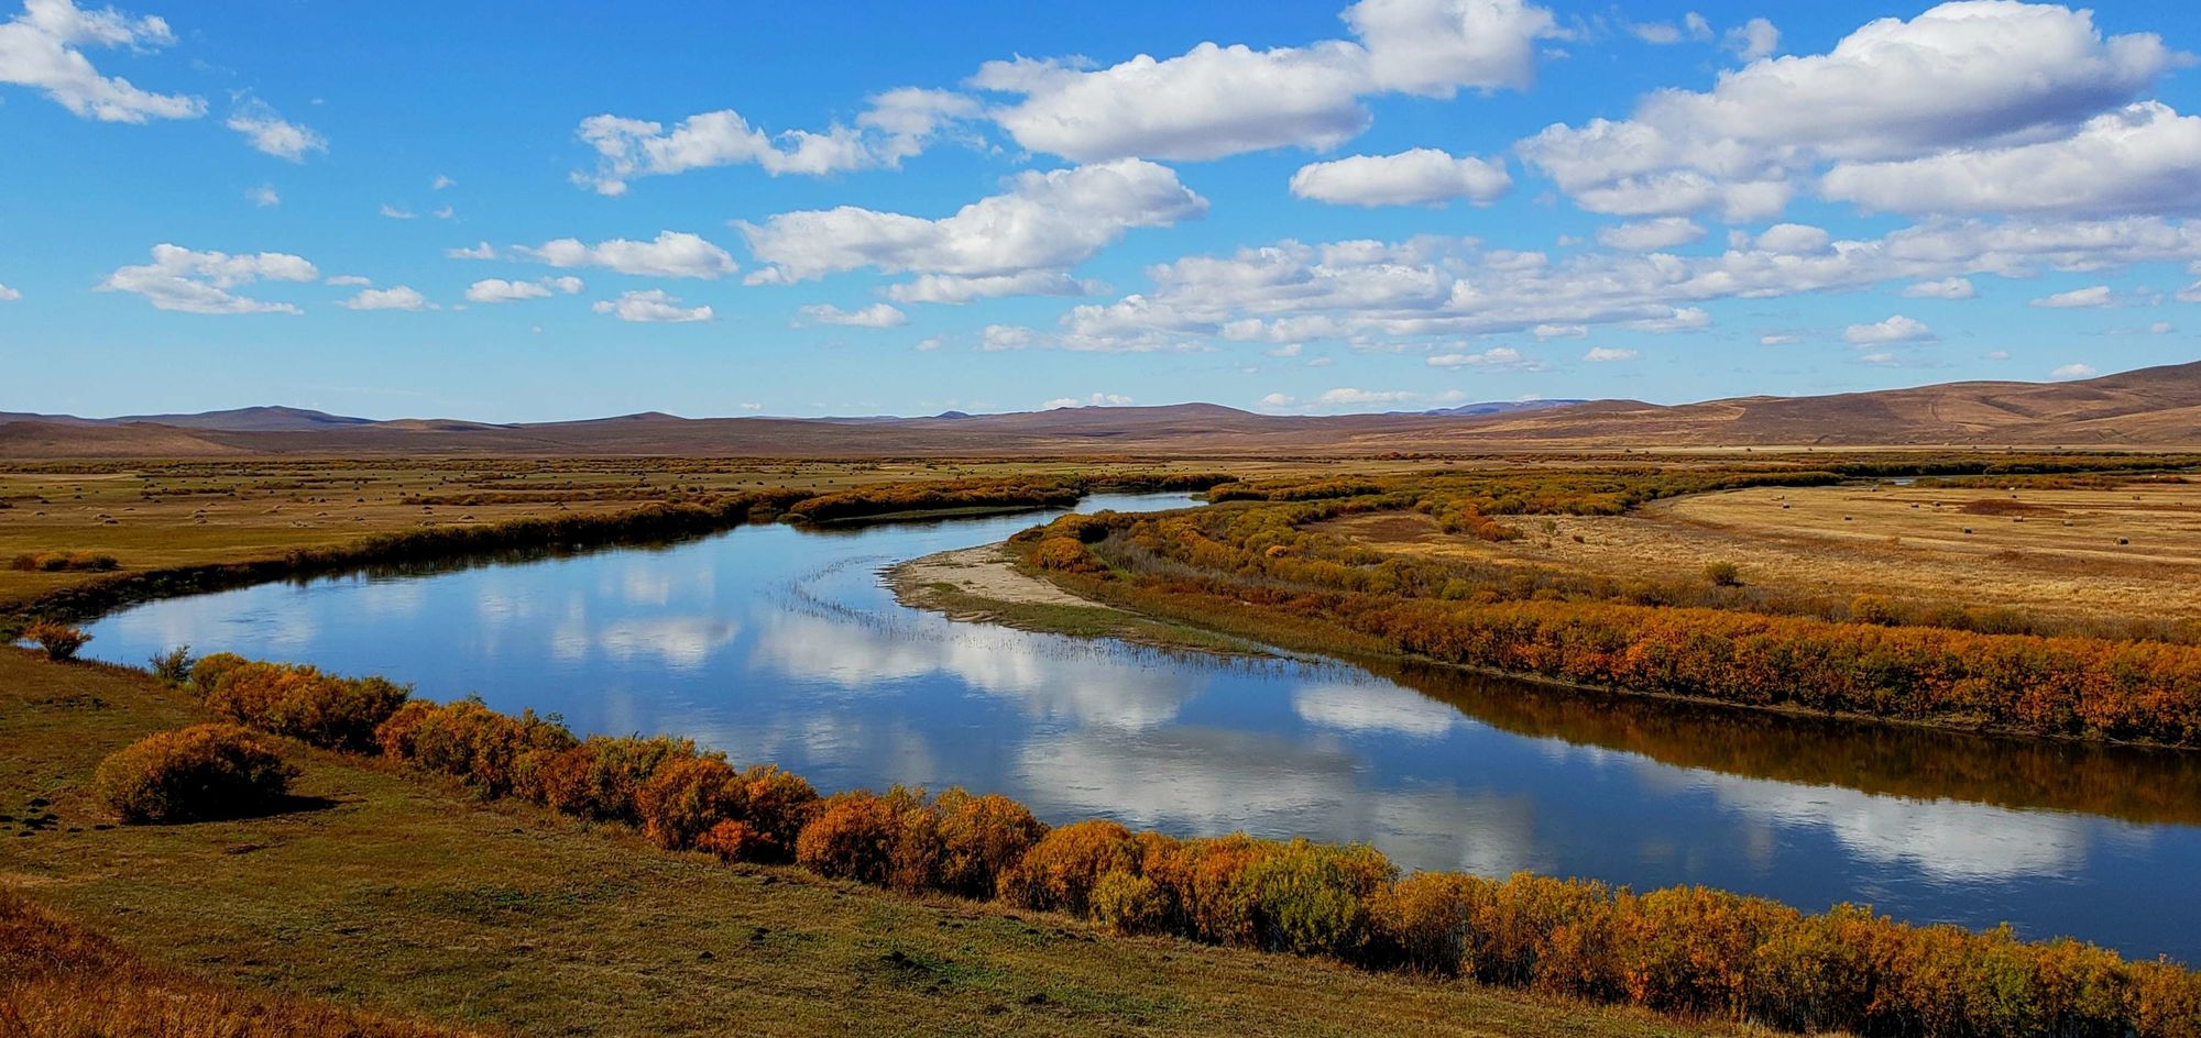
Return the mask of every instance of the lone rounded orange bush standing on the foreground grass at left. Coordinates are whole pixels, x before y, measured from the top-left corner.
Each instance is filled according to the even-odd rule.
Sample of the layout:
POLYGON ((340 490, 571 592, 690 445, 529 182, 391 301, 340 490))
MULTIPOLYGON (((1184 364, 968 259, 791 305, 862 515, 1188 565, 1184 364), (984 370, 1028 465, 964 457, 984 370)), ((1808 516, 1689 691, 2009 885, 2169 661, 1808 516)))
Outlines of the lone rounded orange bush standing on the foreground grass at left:
POLYGON ((125 822, 236 818, 291 789, 297 768, 264 735, 233 724, 158 732, 99 761, 92 796, 125 822))

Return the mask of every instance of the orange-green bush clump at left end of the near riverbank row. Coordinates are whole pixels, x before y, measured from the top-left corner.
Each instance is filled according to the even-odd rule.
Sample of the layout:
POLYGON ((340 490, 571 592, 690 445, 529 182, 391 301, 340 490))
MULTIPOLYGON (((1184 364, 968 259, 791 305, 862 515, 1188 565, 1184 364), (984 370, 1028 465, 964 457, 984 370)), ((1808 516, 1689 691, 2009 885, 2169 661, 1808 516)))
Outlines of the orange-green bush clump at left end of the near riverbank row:
POLYGON ((335 677, 313 666, 216 653, 191 666, 209 710, 330 750, 372 750, 374 728, 412 693, 383 677, 335 677))

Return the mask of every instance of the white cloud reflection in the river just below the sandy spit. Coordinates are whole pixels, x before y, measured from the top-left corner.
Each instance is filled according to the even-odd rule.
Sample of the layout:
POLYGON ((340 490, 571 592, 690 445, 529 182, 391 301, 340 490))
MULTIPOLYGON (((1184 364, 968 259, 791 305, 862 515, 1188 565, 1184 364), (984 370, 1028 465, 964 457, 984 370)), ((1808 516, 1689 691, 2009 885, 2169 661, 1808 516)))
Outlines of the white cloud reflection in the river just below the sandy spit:
POLYGON ((766 614, 762 622, 757 666, 847 691, 951 675, 1015 697, 1037 717, 1123 730, 1169 724, 1193 695, 1182 666, 1140 666, 1136 653, 1006 627, 911 629, 801 614, 766 614))

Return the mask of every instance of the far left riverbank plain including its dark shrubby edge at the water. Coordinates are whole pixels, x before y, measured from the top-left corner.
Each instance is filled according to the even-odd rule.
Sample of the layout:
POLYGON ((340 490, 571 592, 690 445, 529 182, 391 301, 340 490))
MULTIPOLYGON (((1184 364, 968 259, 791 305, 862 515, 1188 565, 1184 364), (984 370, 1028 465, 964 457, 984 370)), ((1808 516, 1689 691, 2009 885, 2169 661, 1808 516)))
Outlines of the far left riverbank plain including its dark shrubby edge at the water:
POLYGON ((0 636, 29 618, 489 552, 1065 508, 1096 490, 1230 479, 1048 464, 238 462, 0 471, 0 636))

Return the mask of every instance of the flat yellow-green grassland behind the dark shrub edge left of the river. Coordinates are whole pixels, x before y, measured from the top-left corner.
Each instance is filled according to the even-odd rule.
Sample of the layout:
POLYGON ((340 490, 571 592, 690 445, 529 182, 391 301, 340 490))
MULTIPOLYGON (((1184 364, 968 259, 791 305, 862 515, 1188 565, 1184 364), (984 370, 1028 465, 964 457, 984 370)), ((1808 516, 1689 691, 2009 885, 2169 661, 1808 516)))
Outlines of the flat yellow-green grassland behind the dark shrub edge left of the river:
MULTIPOLYGON (((1411 462, 1371 462, 1395 473, 1411 462)), ((42 596, 150 572, 280 563, 372 534, 616 517, 790 488, 843 493, 949 479, 1072 479, 1228 471, 1277 477, 1323 462, 1134 460, 227 460, 0 466, 0 614, 42 596), (18 556, 112 556, 117 570, 18 570, 18 556)), ((938 510, 931 515, 940 515, 938 510)))

